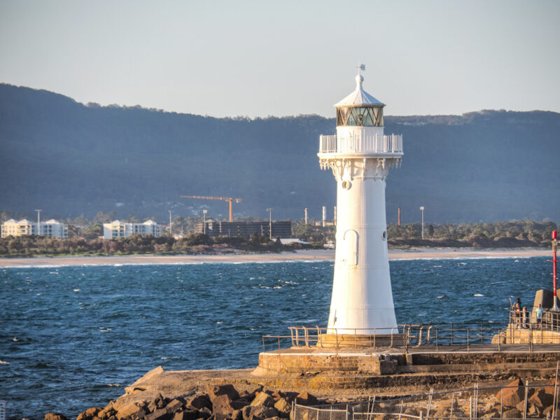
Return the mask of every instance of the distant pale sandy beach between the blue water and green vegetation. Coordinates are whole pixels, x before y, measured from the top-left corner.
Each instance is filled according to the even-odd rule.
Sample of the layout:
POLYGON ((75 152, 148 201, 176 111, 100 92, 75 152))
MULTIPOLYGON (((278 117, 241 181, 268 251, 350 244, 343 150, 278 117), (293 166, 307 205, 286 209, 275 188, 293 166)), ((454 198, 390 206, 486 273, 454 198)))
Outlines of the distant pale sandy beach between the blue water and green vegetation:
MULTIPOLYGON (((546 248, 531 249, 464 249, 464 248, 411 248, 390 249, 390 260, 458 259, 458 258, 529 258, 551 255, 546 248)), ((148 264, 202 264, 239 262, 328 261, 335 260, 332 249, 304 250, 282 253, 246 253, 224 255, 117 255, 76 257, 0 258, 0 267, 41 267, 48 265, 148 265, 148 264)))

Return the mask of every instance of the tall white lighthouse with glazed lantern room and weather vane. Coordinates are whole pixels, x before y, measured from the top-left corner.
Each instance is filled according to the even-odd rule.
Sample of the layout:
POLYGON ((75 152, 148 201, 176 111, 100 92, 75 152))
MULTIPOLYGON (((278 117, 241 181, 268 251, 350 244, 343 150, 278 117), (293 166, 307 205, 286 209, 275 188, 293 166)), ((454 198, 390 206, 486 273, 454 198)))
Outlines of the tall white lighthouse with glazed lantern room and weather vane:
POLYGON ((337 181, 335 278, 328 332, 386 334, 397 326, 387 251, 385 179, 402 159, 402 136, 385 135, 383 107, 362 88, 335 104, 337 134, 321 136, 318 158, 337 181))

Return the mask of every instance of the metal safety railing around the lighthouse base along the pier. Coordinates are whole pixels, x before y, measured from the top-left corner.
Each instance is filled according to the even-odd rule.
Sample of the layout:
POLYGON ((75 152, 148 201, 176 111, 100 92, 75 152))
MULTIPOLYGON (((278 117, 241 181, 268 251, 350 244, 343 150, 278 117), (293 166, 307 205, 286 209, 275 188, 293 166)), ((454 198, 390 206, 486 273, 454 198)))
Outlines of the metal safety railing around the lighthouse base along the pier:
MULTIPOLYGON (((507 340, 512 334, 511 323, 449 323, 402 324, 395 328, 327 328, 320 326, 289 327, 290 335, 263 335, 263 351, 288 347, 328 347, 348 349, 423 348, 426 351, 446 351, 451 347, 460 351, 502 351, 503 346, 519 344, 517 351, 533 351, 535 340, 507 340)), ((536 337, 538 332, 533 331, 536 337)), ((560 335, 559 335, 560 337, 560 335)), ((508 346, 512 349, 511 346, 508 346)), ((560 351, 560 349, 558 349, 560 351)))

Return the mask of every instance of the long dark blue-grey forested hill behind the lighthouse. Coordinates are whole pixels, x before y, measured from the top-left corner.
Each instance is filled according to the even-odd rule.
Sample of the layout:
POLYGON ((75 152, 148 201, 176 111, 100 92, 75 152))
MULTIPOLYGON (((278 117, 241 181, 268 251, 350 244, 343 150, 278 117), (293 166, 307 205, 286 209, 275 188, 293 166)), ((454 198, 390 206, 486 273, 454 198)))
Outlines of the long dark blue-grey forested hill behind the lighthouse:
MULTIPOLYGON (((334 115, 334 112, 333 112, 334 115)), ((388 176, 388 222, 435 223, 552 218, 560 221, 560 114, 479 111, 463 116, 385 118, 403 134, 405 158, 388 176)), ((0 85, 0 211, 45 217, 116 211, 332 218, 335 181, 318 165, 320 116, 211 118, 140 107, 80 104, 45 90, 0 85), (194 207, 191 209, 189 207, 194 207)))

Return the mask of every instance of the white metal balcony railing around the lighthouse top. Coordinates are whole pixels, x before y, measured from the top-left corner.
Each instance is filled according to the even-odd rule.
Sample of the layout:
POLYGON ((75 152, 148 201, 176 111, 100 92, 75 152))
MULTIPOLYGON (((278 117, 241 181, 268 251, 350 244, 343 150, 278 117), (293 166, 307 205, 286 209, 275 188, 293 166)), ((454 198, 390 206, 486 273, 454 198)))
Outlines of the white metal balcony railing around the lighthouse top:
POLYGON ((319 137, 319 153, 402 153, 402 134, 319 137))

